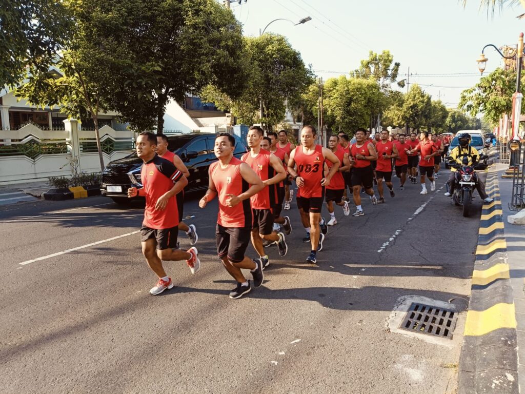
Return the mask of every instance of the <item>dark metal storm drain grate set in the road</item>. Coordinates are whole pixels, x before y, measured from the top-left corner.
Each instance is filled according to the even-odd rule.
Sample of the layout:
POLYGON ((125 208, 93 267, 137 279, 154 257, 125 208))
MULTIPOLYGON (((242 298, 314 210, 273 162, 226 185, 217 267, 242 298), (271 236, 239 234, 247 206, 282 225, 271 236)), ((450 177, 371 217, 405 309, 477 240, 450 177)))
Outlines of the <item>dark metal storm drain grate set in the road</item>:
POLYGON ((454 310, 412 303, 400 328, 452 339, 456 321, 457 313, 454 310))

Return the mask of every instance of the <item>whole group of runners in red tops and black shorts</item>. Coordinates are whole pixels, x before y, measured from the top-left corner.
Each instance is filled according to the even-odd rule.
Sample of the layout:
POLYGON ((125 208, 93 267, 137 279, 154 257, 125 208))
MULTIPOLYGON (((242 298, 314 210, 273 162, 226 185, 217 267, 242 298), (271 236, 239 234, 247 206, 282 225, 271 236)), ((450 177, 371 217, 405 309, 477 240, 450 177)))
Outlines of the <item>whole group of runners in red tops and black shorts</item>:
MULTIPOLYGON (((241 159, 234 155, 235 138, 220 133, 215 139, 214 153, 217 161, 209 167, 208 189, 199 201, 204 209, 208 202, 218 199, 215 238, 217 255, 237 286, 229 293, 239 298, 264 281, 264 269, 270 264, 266 247, 276 245, 280 256, 288 252, 286 236, 292 231, 290 217, 282 211, 290 210, 297 185, 297 208, 301 224, 306 231, 302 242, 309 243, 306 261, 317 263, 317 252, 322 250, 328 226, 337 224, 335 205, 343 214, 350 214, 346 191, 352 193, 355 204, 353 216, 364 211, 361 194, 370 196, 373 205, 385 202, 384 185, 391 198, 395 197, 393 171, 404 190, 408 179, 416 183, 419 173, 422 194, 435 190, 434 171, 438 171, 437 158, 444 151, 444 144, 437 136, 429 138, 426 131, 409 136, 390 136, 388 130, 370 137, 369 131, 358 129, 355 143, 351 144, 345 133, 331 136, 328 148, 316 143, 317 131, 304 126, 300 131, 300 144, 295 147, 288 140, 285 130, 279 133, 264 131, 251 126, 247 134, 249 152, 241 159), (419 137, 419 139, 417 138, 419 137), (418 162, 419 157, 421 161, 418 162), (436 167, 435 167, 436 165, 436 167), (377 184, 379 198, 373 184, 377 184), (326 204, 330 220, 321 215, 326 204), (246 256, 251 242, 257 258, 246 256), (242 269, 249 269, 251 281, 242 269)), ((143 160, 141 179, 143 188, 130 188, 128 196, 146 199, 144 221, 141 228, 142 252, 152 271, 159 277, 150 290, 153 295, 173 287, 172 279, 164 271, 162 261, 185 260, 192 274, 201 262, 195 246, 182 251, 177 242, 182 230, 194 245, 198 240, 193 224, 182 222, 183 190, 189 172, 174 153, 167 150, 167 138, 143 132, 137 138, 137 154, 143 160)))

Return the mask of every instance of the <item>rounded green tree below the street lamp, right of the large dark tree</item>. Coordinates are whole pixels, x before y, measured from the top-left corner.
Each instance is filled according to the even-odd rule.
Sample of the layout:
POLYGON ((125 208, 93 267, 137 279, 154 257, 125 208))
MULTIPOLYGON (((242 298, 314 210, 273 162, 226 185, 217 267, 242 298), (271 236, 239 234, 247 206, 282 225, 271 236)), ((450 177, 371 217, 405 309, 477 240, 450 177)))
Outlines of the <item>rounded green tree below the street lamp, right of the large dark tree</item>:
POLYGON ((301 95, 313 82, 313 72, 283 36, 245 37, 245 47, 241 63, 248 82, 238 97, 216 85, 203 89, 202 97, 220 109, 229 109, 242 122, 276 125, 285 117, 286 100, 292 108, 301 102, 301 95))

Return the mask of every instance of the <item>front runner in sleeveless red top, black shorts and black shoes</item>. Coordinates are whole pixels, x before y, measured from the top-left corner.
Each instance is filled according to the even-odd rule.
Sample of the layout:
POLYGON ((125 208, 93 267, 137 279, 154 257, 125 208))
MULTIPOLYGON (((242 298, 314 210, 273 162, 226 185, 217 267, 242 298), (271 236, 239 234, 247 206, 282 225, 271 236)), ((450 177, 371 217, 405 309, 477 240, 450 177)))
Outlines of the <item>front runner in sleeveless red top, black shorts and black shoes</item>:
POLYGON ((264 280, 261 264, 245 256, 253 223, 250 197, 260 192, 264 184, 248 164, 234 157, 234 149, 233 136, 218 134, 214 152, 219 160, 209 166, 208 190, 199 201, 199 207, 204 208, 218 196, 219 212, 215 229, 217 255, 226 271, 237 281, 237 287, 229 297, 239 298, 251 290, 241 268, 251 271, 255 287, 259 287, 264 280))

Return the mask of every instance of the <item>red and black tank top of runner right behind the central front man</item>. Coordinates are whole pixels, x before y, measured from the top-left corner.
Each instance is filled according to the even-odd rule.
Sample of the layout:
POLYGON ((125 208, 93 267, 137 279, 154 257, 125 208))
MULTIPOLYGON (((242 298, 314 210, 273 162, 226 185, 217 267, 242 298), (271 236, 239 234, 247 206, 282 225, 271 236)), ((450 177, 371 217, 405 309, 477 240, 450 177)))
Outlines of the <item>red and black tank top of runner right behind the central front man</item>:
MULTIPOLYGON (((256 157, 251 152, 243 154, 242 161, 246 162, 262 181, 274 178, 275 170, 270 164, 270 152, 261 149, 256 157)), ((275 184, 265 186, 257 194, 250 197, 251 208, 270 209, 277 204, 277 188, 275 184)))

